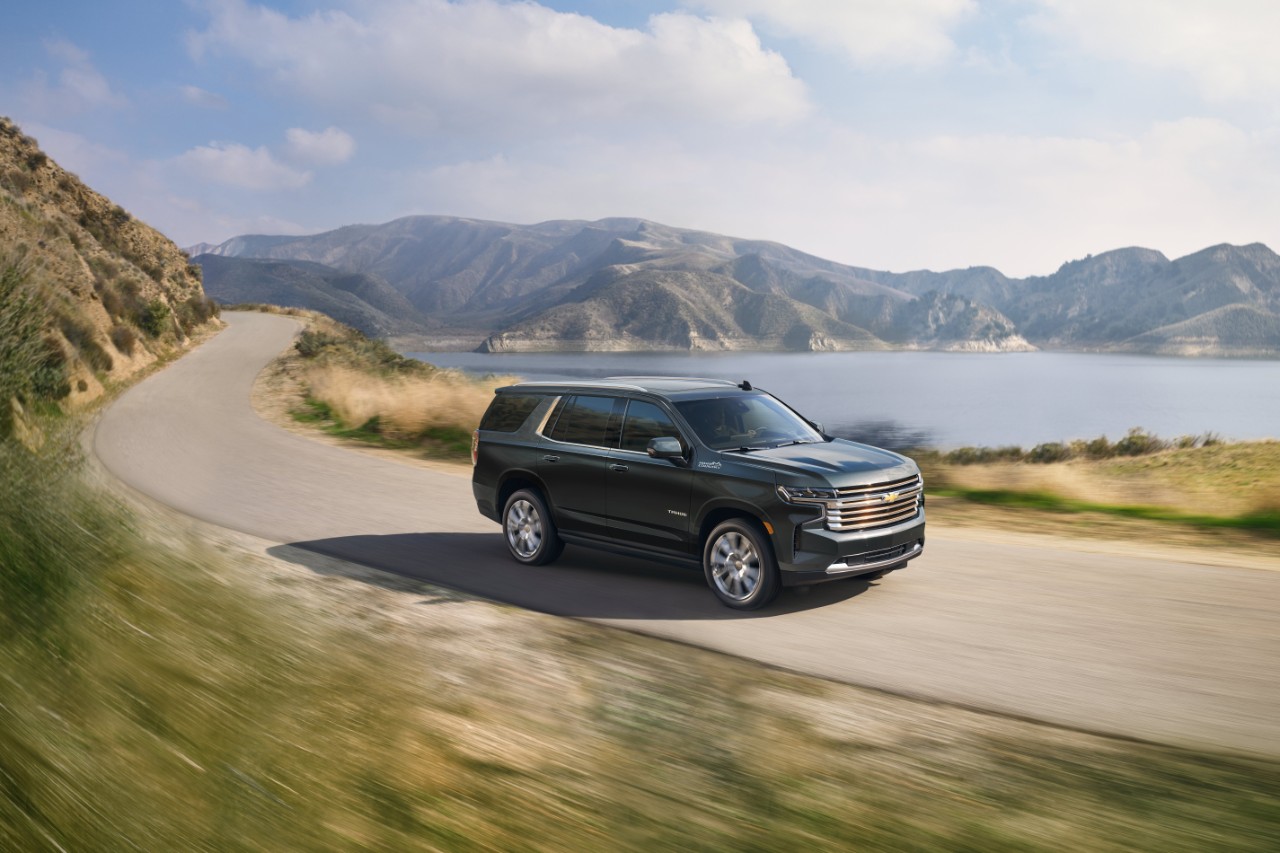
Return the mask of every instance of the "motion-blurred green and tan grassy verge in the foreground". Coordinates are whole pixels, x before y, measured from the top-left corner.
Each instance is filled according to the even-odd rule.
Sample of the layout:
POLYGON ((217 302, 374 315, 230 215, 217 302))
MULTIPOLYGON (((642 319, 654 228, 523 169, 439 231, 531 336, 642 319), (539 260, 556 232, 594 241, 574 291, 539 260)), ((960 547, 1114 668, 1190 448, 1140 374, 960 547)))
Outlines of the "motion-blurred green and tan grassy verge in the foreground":
MULTIPOLYGON (((10 323, 20 305, 0 302, 0 328, 37 334, 10 323)), ((31 401, 38 347, 0 341, 6 393, 31 401)), ((1280 840, 1280 763, 804 679, 314 555, 253 557, 95 487, 78 420, 31 420, 38 447, 0 434, 0 849, 1280 840)))

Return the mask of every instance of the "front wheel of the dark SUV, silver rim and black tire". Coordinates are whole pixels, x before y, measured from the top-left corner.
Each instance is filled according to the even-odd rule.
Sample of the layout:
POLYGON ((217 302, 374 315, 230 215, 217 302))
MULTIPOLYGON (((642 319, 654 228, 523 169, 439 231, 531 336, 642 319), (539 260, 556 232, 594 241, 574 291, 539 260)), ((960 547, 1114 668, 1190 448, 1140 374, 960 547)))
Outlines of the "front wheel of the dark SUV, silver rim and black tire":
POLYGON ((716 525, 703 546, 703 574, 721 603, 735 610, 764 607, 782 585, 769 540, 746 519, 716 525))

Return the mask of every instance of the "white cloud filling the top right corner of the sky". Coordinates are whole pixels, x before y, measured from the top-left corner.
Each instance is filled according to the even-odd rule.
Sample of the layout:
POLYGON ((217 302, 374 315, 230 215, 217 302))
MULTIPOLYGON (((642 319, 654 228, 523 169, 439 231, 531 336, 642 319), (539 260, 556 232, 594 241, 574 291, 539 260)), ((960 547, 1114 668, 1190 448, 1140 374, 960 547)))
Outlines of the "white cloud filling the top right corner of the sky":
POLYGON ((1189 74, 1213 100, 1280 96, 1275 0, 1034 3, 1034 27, 1093 55, 1189 74))

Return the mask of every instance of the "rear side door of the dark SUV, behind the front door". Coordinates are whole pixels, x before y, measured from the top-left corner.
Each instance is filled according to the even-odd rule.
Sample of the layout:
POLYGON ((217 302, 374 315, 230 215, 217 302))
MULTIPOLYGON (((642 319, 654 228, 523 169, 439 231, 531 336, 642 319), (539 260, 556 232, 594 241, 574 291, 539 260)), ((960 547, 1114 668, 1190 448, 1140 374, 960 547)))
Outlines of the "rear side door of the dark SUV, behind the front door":
POLYGON ((609 451, 617 447, 623 400, 566 397, 548 419, 538 475, 556 524, 567 533, 605 535, 609 451))

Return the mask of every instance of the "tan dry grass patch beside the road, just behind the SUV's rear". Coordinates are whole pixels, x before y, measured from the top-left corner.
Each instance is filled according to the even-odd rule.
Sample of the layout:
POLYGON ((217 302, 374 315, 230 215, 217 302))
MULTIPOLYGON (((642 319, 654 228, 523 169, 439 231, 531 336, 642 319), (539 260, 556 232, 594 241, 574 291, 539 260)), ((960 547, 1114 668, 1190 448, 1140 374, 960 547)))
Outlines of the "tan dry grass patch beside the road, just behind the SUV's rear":
POLYGON ((493 389, 511 377, 476 380, 436 370, 426 375, 378 375, 342 364, 317 364, 303 373, 310 396, 326 405, 347 426, 376 419, 388 438, 415 439, 433 428, 471 432, 493 400, 493 389))

